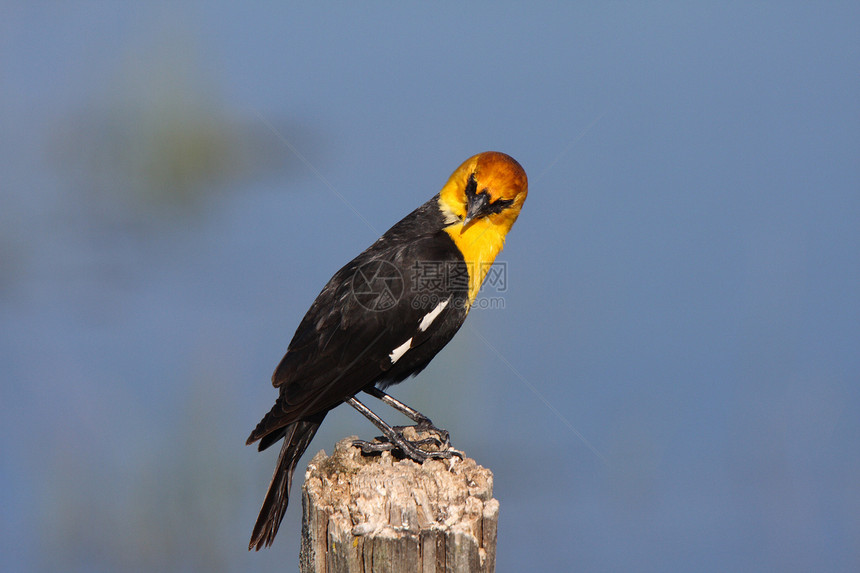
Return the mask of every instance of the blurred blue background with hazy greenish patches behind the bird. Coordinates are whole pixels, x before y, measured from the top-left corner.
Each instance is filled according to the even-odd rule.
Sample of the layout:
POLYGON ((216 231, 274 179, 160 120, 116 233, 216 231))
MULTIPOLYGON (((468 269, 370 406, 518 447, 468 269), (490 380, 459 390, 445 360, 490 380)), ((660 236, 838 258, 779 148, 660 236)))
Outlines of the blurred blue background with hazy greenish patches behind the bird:
POLYGON ((493 149, 503 304, 393 393, 495 472, 498 570, 860 570, 858 72, 856 2, 3 3, 0 568, 292 570, 269 377, 493 149))

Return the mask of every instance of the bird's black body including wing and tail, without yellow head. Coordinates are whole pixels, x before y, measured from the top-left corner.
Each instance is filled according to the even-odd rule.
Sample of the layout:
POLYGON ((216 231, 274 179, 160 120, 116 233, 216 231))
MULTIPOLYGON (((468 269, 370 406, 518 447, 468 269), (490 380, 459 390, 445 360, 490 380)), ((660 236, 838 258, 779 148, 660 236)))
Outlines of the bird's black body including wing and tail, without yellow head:
MULTIPOLYGON (((295 466, 326 412, 365 388, 384 388, 417 374, 463 324, 468 280, 441 280, 433 288, 416 280, 422 278, 416 277, 422 264, 443 269, 446 277, 468 277, 463 256, 444 227, 437 195, 335 273, 302 319, 272 376, 280 395, 247 442, 260 440, 259 449, 264 450, 286 438, 254 527, 252 548, 274 539, 295 466), (380 292, 387 298, 374 299, 373 292, 364 289, 368 277, 359 273, 362 270, 381 270, 383 275, 394 270, 393 275, 388 272, 388 282, 401 289, 380 292), (444 309, 422 331, 422 319, 445 300, 444 309), (393 360, 392 351, 410 339, 409 349, 393 360)), ((374 285, 385 282, 376 280, 374 285)))

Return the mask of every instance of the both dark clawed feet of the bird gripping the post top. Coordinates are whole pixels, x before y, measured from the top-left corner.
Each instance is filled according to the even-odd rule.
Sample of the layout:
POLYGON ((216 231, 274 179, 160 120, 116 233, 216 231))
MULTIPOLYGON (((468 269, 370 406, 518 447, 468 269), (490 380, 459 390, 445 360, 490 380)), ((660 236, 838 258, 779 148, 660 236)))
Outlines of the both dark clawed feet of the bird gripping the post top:
POLYGON ((363 454, 392 454, 423 463, 428 459, 450 459, 452 456, 463 458, 463 452, 451 447, 447 430, 435 427, 430 420, 422 420, 414 426, 395 426, 394 435, 379 436, 372 442, 355 440, 353 446, 361 448, 363 454))

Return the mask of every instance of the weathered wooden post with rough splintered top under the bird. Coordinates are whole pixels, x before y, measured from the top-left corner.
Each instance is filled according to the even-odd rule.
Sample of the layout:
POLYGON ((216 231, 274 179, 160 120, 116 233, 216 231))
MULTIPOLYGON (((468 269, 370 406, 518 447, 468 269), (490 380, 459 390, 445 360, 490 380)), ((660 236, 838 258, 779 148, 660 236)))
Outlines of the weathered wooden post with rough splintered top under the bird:
POLYGON ((487 572, 496 566, 493 474, 453 457, 364 456, 341 440, 302 485, 302 573, 487 572))

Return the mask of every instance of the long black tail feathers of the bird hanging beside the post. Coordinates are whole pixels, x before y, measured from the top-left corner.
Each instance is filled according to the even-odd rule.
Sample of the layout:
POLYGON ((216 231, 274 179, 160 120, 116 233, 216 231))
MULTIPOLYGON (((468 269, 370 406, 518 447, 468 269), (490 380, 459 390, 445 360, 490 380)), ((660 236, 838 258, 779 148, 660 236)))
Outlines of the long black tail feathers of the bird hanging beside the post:
POLYGON ((266 499, 263 500, 257 523, 254 524, 251 543, 248 545, 249 551, 251 549, 259 551, 263 547, 270 546, 275 540, 284 512, 287 511, 296 464, 299 463, 299 458, 305 453, 311 439, 317 433, 324 417, 325 412, 310 419, 298 420, 283 428, 284 444, 281 446, 281 454, 278 456, 278 464, 269 483, 266 499))

